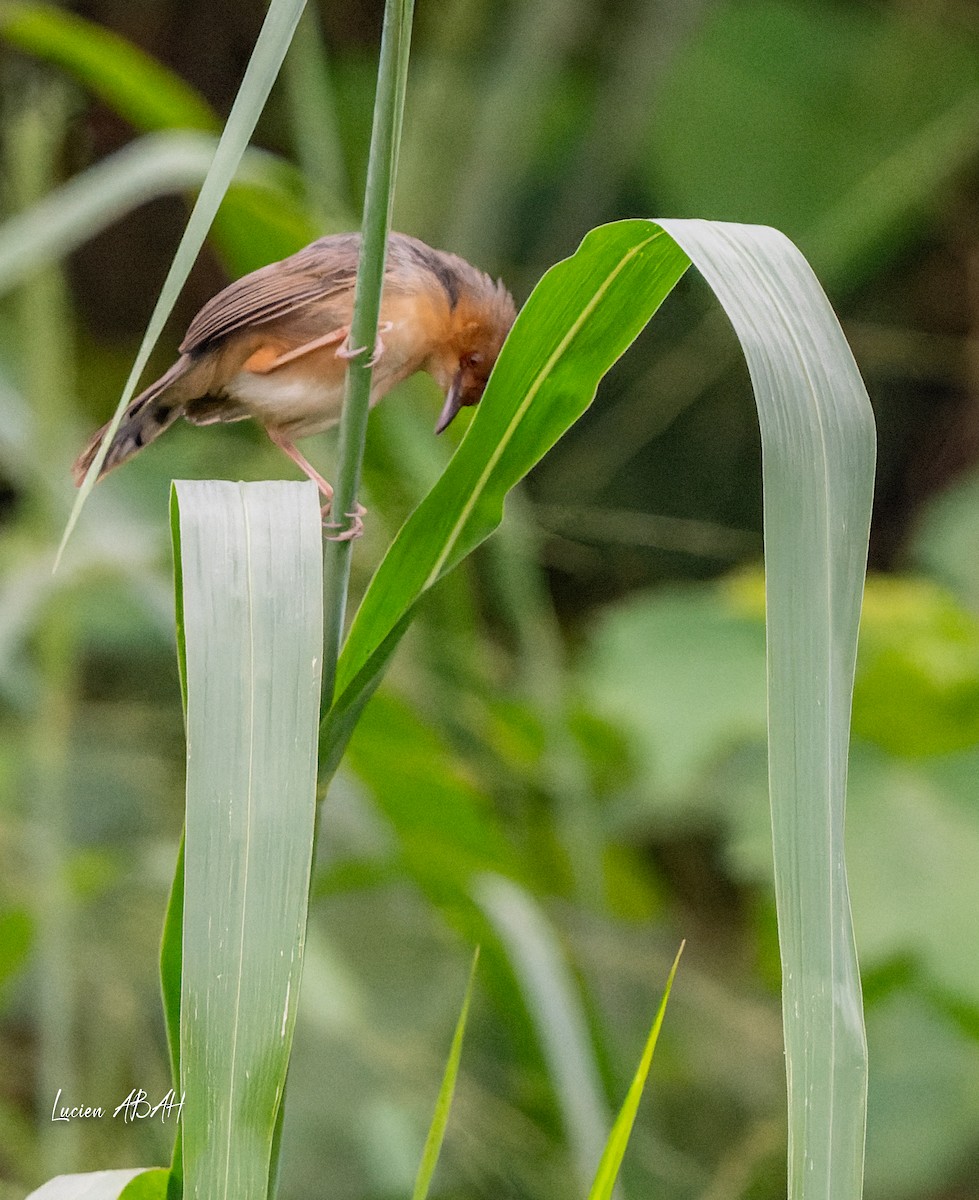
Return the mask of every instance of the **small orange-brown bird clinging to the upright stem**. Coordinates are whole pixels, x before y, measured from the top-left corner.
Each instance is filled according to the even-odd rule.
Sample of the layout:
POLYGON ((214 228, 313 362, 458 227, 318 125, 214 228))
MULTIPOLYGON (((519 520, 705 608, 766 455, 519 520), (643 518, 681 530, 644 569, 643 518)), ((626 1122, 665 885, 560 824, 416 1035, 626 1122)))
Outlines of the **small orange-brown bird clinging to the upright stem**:
MULTIPOLYGON (((271 440, 325 499, 331 485, 296 449, 299 438, 330 428, 343 408, 348 362, 366 353, 350 346, 360 234, 318 238, 212 296, 187 328, 179 358, 136 396, 102 462, 98 478, 131 458, 181 416, 193 425, 241 421, 264 426, 271 440)), ((373 348, 371 407, 426 371, 445 396, 442 433, 464 407, 482 398, 490 372, 516 318, 511 294, 466 259, 391 233, 373 348)), ((73 466, 85 479, 108 433, 102 426, 73 466)), ((337 540, 356 536, 362 511, 337 540)))

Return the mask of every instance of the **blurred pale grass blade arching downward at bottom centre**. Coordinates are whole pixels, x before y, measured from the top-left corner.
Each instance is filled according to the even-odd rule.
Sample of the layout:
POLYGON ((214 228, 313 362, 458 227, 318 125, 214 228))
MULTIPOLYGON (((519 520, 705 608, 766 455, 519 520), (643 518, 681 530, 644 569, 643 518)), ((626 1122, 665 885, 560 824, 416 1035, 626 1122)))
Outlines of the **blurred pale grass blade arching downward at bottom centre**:
POLYGON ((506 949, 536 1027, 584 1188, 602 1153, 608 1112, 575 980, 554 930, 527 892, 499 875, 484 876, 474 892, 506 949))

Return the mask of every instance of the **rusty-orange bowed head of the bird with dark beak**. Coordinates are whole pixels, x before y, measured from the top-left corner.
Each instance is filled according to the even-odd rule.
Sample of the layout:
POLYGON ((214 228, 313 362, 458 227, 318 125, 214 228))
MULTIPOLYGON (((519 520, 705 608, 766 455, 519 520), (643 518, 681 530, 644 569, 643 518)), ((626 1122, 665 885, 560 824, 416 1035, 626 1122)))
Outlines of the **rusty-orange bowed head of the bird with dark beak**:
MULTIPOLYGON (((476 274, 476 272, 474 272, 476 274)), ((482 400, 490 372, 516 318, 513 298, 503 286, 480 275, 451 312, 450 332, 431 356, 428 370, 445 392, 436 433, 451 425, 461 408, 482 400)))

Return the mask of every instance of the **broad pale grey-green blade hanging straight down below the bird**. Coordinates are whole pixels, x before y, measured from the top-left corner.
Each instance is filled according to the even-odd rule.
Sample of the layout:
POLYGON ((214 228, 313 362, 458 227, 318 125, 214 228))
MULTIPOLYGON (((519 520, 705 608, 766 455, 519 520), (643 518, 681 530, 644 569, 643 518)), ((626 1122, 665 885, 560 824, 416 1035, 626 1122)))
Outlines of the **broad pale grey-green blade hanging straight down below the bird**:
POLYGON ((299 998, 323 556, 312 484, 178 482, 185 1195, 265 1200, 299 998))

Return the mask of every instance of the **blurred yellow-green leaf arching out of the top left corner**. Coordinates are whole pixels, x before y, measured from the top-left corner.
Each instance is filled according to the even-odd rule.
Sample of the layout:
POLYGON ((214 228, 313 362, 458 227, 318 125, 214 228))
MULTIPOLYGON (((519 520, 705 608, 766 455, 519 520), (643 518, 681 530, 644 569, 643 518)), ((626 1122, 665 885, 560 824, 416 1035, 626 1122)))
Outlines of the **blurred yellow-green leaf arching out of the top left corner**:
POLYGON ((220 128, 204 97, 172 71, 112 30, 64 8, 4 0, 0 37, 74 76, 139 130, 220 128))

